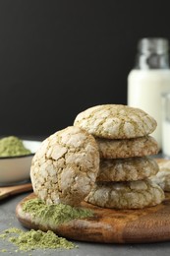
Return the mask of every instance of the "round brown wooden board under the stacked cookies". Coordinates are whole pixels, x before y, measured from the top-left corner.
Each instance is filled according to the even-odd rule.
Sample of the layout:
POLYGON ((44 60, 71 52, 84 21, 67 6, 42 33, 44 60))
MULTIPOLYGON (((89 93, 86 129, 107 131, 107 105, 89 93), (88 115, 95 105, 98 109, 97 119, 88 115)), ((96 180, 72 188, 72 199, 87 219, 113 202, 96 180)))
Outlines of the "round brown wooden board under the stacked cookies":
POLYGON ((32 193, 19 203, 16 209, 18 220, 28 228, 53 230, 59 236, 73 240, 101 243, 148 243, 170 240, 170 193, 162 204, 142 210, 112 210, 92 206, 92 218, 74 220, 67 224, 42 224, 23 212, 23 203, 35 198, 32 193))

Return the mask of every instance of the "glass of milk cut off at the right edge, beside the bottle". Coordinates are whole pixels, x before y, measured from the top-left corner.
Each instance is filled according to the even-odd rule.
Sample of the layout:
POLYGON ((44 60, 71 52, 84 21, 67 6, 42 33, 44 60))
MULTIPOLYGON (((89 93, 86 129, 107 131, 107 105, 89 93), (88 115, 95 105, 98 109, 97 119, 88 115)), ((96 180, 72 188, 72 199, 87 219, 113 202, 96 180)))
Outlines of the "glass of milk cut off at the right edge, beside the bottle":
POLYGON ((162 154, 170 159, 170 92, 162 95, 162 154))

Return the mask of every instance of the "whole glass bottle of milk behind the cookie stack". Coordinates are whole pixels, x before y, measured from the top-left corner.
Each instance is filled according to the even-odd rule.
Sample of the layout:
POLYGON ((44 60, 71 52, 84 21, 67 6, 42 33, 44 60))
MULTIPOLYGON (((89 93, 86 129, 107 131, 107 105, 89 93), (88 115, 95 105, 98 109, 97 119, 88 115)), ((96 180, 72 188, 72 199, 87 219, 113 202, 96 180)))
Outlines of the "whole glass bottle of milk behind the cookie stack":
POLYGON ((128 76, 128 105, 140 107, 157 121, 151 134, 162 148, 161 95, 170 92, 169 41, 142 38, 138 43, 136 65, 128 76))

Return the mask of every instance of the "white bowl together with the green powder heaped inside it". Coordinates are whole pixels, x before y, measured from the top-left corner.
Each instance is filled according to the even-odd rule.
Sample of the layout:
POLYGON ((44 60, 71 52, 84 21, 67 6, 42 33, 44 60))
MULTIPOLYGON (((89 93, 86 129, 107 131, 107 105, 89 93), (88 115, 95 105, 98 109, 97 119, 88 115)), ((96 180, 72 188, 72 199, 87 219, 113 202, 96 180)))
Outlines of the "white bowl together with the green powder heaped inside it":
MULTIPOLYGON (((10 184, 27 183, 30 180, 30 164, 31 160, 41 145, 40 141, 21 141, 19 138, 7 137, 1 140, 1 148, 8 147, 6 149, 6 157, 1 155, 0 157, 0 187, 9 186, 10 184), (2 143, 2 140, 6 141, 2 143), (18 140, 17 144, 13 144, 15 140, 18 140), (11 143, 11 145, 10 145, 11 143), (2 145, 4 144, 4 146, 2 145), (27 152, 29 151, 29 153, 27 152), (27 152, 27 153, 26 153, 27 152), (9 154, 10 153, 10 154, 9 154), (8 156, 8 157, 7 157, 8 156)), ((3 196, 4 197, 4 196, 3 196)), ((1 189, 0 189, 1 198, 1 189)))

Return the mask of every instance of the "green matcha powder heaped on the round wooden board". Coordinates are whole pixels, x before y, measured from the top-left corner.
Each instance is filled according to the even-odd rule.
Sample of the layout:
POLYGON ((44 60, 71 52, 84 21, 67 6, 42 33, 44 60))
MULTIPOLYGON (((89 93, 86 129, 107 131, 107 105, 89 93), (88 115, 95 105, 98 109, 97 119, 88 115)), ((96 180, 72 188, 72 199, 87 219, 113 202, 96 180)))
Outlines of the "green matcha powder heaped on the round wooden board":
POLYGON ((46 205, 40 199, 29 199, 23 204, 23 211, 37 218, 42 224, 64 224, 74 219, 93 217, 91 210, 64 204, 46 205))

